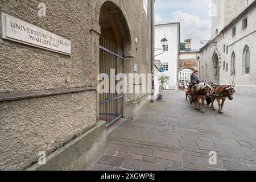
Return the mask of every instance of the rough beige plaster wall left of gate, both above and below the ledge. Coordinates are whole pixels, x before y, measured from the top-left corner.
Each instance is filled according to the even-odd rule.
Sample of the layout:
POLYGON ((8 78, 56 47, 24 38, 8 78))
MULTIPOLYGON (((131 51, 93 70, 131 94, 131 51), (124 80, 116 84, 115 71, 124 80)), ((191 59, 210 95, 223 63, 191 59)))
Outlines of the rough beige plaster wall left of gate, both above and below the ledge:
MULTIPOLYGON (((0 11, 70 39, 72 55, 0 39, 0 93, 97 86, 90 1, 0 1, 0 11)), ((1 169, 24 169, 96 125, 97 94, 84 92, 0 103, 1 169)))

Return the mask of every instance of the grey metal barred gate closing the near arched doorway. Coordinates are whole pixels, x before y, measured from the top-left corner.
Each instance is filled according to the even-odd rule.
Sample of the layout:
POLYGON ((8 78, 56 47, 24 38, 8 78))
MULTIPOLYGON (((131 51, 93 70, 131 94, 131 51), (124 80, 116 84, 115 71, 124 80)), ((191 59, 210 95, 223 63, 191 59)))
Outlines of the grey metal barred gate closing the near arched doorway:
MULTIPOLYGON (((102 121, 106 121, 108 127, 123 117, 123 93, 116 92, 120 90, 115 90, 115 93, 110 93, 110 69, 115 70, 115 76, 117 76, 119 73, 123 73, 123 50, 101 36, 100 73, 106 73, 108 75, 109 93, 103 93, 99 95, 99 118, 102 121)), ((112 79, 115 80, 113 77, 112 79)), ((120 79, 123 80, 122 77, 120 79)), ((117 85, 119 81, 114 82, 115 85, 117 85)))

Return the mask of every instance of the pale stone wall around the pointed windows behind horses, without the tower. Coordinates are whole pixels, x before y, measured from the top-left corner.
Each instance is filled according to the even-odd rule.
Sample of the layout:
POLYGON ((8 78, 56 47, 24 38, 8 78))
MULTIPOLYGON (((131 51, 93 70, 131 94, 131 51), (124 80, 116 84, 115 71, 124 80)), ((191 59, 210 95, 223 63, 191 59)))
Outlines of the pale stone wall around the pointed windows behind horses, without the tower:
POLYGON ((218 35, 207 46, 200 51, 200 79, 214 81, 213 55, 217 53, 220 66, 220 84, 236 84, 238 93, 256 94, 256 52, 254 51, 256 36, 256 10, 255 8, 236 22, 236 36, 232 37, 232 27, 218 35), (247 28, 242 30, 242 18, 247 17, 247 28), (225 52, 224 52, 225 45, 225 52), (229 47, 228 53, 226 46, 229 47), (243 50, 246 46, 250 48, 250 74, 243 73, 243 50), (236 53, 236 77, 231 76, 231 57, 236 53), (225 69, 224 69, 225 62, 225 69), (205 65, 208 65, 208 76, 206 76, 205 65), (226 64, 228 70, 226 71, 226 64), (203 66, 203 70, 202 70, 203 66))

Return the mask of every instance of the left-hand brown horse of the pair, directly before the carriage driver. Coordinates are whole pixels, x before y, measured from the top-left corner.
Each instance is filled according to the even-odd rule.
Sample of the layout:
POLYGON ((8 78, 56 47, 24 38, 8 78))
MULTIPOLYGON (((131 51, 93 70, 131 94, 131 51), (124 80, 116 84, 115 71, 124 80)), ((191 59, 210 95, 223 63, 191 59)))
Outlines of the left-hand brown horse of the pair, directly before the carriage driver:
POLYGON ((200 83, 192 87, 191 94, 192 94, 192 101, 195 103, 196 110, 200 111, 200 100, 202 101, 202 113, 204 113, 204 101, 210 97, 210 94, 213 93, 212 86, 206 83, 200 83))

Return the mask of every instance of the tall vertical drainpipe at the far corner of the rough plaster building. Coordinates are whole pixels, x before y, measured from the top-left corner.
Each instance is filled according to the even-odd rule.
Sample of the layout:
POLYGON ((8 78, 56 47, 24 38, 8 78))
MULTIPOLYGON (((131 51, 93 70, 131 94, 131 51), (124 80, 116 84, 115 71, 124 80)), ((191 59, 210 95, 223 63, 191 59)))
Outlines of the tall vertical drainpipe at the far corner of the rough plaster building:
POLYGON ((151 93, 151 102, 154 103, 155 102, 155 98, 154 98, 154 93, 155 93, 155 69, 154 69, 154 65, 155 65, 155 60, 154 60, 154 32, 155 32, 155 0, 151 0, 151 75, 152 75, 152 93, 151 93))

